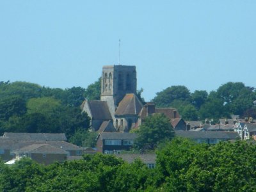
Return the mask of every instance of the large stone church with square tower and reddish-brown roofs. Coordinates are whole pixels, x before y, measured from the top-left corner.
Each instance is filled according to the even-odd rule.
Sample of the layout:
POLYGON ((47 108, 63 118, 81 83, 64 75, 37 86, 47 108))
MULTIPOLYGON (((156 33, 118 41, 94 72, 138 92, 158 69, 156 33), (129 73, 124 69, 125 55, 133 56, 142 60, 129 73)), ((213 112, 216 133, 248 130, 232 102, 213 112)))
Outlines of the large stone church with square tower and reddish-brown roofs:
POLYGON ((108 65, 102 68, 100 100, 84 100, 82 111, 91 118, 92 131, 129 132, 154 113, 168 118, 180 118, 173 108, 157 109, 155 104, 143 104, 136 96, 136 67, 108 65))

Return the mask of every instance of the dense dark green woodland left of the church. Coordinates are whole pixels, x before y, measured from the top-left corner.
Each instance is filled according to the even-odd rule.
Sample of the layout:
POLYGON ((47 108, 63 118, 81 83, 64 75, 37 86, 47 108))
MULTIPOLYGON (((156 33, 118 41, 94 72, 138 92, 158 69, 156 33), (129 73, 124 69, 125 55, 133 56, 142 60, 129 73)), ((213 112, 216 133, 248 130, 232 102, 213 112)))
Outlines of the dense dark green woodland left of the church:
POLYGON ((83 144, 92 144, 95 134, 88 132, 90 117, 81 113, 80 106, 85 98, 99 99, 100 79, 86 89, 64 90, 20 81, 0 82, 0 95, 0 134, 64 132, 75 144, 81 144, 83 134, 89 141, 83 144))

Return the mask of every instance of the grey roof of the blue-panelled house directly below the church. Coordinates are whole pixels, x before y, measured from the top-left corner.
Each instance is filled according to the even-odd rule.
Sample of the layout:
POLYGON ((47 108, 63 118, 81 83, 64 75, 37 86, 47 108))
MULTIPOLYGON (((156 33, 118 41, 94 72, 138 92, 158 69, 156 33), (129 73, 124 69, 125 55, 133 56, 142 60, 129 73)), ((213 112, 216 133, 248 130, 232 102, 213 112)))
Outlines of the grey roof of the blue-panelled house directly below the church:
POLYGON ((130 132, 100 132, 99 137, 102 140, 135 140, 137 134, 130 132))

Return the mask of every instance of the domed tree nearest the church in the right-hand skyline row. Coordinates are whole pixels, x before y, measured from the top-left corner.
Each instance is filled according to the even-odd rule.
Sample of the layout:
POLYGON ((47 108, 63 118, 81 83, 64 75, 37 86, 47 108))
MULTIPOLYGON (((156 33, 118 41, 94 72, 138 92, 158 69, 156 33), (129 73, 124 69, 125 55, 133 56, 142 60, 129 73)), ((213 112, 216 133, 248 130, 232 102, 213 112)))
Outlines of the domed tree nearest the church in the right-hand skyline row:
POLYGON ((170 107, 174 100, 182 100, 190 102, 191 96, 186 86, 171 86, 156 93, 156 97, 152 99, 158 107, 170 107))

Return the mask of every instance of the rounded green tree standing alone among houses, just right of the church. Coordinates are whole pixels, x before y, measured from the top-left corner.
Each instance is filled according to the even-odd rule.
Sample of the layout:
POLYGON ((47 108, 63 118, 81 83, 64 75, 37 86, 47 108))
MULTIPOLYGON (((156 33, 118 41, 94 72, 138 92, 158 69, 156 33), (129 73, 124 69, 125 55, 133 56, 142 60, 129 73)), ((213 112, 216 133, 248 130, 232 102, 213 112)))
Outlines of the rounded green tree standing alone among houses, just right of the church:
POLYGON ((142 150, 153 150, 159 143, 172 140, 174 136, 170 120, 160 113, 145 118, 137 133, 135 147, 142 150))

